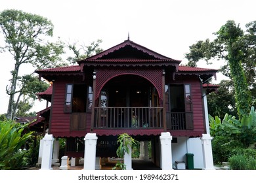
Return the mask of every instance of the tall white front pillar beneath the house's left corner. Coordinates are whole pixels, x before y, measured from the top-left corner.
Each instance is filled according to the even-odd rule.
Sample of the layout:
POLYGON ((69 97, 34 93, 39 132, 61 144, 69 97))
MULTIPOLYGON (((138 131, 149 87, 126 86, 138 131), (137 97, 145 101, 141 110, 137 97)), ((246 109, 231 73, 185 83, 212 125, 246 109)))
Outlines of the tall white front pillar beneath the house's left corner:
POLYGON ((53 135, 45 134, 43 137, 43 154, 42 154, 42 164, 41 170, 51 170, 52 157, 53 157, 53 135))

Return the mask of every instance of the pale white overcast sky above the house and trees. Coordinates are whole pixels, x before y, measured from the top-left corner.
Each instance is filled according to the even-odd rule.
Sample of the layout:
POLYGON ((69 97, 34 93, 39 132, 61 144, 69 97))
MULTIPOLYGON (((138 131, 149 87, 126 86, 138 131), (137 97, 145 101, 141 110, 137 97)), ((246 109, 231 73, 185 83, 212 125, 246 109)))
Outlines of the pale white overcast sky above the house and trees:
MULTIPOLYGON (((23 10, 48 18, 54 25, 54 37, 64 42, 81 42, 89 45, 101 39, 104 50, 128 38, 150 50, 186 63, 184 54, 197 41, 214 39, 213 33, 234 20, 244 25, 256 20, 256 1, 229 0, 0 0, 0 11, 23 10)), ((3 44, 0 30, 0 45, 3 44)), ((9 96, 5 92, 14 68, 12 56, 0 53, 0 114, 7 112, 9 96)), ((219 69, 214 65, 198 67, 219 69)), ((32 73, 29 65, 20 74, 32 73)), ((217 74, 218 83, 223 76, 217 74)), ((37 101, 32 111, 43 110, 46 102, 37 101)))

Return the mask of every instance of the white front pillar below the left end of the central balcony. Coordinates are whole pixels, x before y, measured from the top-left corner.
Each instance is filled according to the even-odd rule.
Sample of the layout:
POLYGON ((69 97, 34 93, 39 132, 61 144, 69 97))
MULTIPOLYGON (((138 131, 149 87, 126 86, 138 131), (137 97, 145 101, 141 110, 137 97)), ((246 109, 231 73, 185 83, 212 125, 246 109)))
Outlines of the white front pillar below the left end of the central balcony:
POLYGON ((87 135, 85 135, 84 170, 95 170, 97 139, 96 133, 87 133, 87 135))

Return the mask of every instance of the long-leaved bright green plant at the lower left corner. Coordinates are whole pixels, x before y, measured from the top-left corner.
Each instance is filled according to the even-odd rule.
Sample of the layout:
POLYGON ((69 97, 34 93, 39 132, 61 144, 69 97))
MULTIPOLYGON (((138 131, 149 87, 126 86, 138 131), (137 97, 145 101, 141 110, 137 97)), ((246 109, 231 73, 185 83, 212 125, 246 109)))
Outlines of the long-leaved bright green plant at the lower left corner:
POLYGON ((20 150, 32 132, 24 133, 26 126, 5 121, 0 124, 0 169, 21 169, 26 151, 20 150))

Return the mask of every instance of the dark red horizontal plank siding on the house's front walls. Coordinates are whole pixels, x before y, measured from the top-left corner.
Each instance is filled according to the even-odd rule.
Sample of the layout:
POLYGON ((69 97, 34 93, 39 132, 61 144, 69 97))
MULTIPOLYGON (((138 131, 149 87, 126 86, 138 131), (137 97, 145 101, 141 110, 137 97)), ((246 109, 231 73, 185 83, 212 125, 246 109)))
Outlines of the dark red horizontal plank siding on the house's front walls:
MULTIPOLYGON (((84 137, 87 133, 91 132, 91 112, 88 112, 85 116, 86 125, 82 130, 76 130, 71 124, 72 113, 64 112, 64 102, 66 95, 66 84, 72 83, 69 81, 58 81, 54 82, 53 85, 53 101, 51 108, 51 120, 50 120, 50 132, 54 137, 84 137)), ((192 97, 192 111, 193 111, 193 128, 190 130, 168 130, 171 134, 175 136, 192 136, 191 134, 201 134, 205 132, 204 124, 204 111, 203 111, 203 101, 202 101, 202 89, 200 85, 200 80, 195 77, 182 78, 181 80, 176 80, 171 83, 179 84, 190 84, 191 97, 192 97)), ((167 105, 167 103, 165 103, 167 105)), ((170 113, 167 111, 167 121, 170 113)), ((168 124, 168 123, 167 123, 168 124)), ((102 129, 106 131, 106 134, 111 134, 113 129, 102 129)), ((95 130, 96 131, 96 130, 95 130)), ((133 129, 135 131, 135 129, 133 129)), ((140 134, 148 133, 148 129, 139 129, 140 134)), ((154 131, 154 129, 153 129, 154 131)), ((105 132, 104 132, 105 133, 105 132)), ((137 132, 135 132, 137 133, 137 132)))

